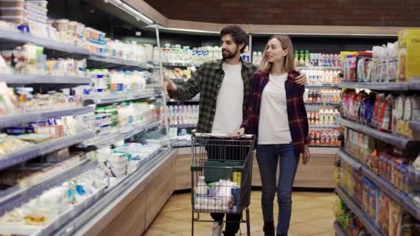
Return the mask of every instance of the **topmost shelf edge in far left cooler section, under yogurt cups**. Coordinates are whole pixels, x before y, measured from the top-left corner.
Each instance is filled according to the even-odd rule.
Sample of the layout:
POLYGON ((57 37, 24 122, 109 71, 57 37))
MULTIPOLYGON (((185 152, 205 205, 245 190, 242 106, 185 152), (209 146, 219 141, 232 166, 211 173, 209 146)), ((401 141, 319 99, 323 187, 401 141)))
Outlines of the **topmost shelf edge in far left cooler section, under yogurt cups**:
POLYGON ((117 57, 108 57, 106 55, 97 55, 91 53, 88 57, 88 68, 96 68, 96 69, 115 69, 115 68, 124 68, 128 70, 132 68, 135 70, 144 69, 144 70, 154 70, 155 65, 151 63, 141 63, 138 61, 128 61, 125 59, 120 59, 117 57))

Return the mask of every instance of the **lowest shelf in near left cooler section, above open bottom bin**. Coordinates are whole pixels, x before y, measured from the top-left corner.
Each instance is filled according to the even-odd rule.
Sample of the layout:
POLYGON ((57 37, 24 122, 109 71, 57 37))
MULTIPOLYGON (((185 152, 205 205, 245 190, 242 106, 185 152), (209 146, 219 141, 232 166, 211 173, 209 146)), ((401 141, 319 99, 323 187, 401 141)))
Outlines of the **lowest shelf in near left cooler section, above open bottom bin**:
POLYGON ((8 188, 0 195, 0 215, 8 210, 21 206, 26 201, 37 197, 44 191, 60 186, 64 181, 80 175, 84 171, 92 168, 97 163, 89 161, 86 155, 73 157, 55 166, 51 166, 44 173, 32 175, 19 185, 8 188))

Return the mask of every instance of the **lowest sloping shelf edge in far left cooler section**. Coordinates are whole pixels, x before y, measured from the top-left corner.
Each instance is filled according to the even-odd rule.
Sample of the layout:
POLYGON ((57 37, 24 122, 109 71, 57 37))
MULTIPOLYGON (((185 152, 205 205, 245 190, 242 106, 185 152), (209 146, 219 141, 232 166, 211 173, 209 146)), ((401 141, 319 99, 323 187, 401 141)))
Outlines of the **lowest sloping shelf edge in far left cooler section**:
POLYGON ((92 140, 87 140, 82 143, 82 146, 94 146, 97 149, 104 148, 106 146, 110 146, 111 144, 115 144, 118 141, 129 139, 140 132, 148 130, 149 128, 155 128, 159 126, 159 124, 160 122, 157 121, 151 121, 146 124, 134 124, 133 126, 123 128, 119 132, 106 135, 105 137, 94 137, 92 140))

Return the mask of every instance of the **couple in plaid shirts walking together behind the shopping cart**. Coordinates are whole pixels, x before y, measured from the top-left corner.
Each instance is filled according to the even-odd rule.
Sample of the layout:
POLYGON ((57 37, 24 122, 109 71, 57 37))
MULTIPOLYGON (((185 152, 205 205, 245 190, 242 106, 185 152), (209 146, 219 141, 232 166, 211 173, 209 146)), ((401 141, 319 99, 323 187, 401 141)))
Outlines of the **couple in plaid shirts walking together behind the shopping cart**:
MULTIPOLYGON (((204 63, 183 86, 166 80, 169 96, 187 101, 200 92, 197 132, 245 133, 258 137, 256 150, 262 181, 262 214, 265 235, 287 235, 292 212, 292 186, 303 153, 309 161, 308 123, 303 103, 305 75, 294 68, 292 41, 274 36, 265 46, 257 69, 242 61, 247 34, 239 26, 220 32, 222 60, 204 63), (280 160, 278 186, 276 171, 280 160), (278 225, 274 231, 273 201, 277 190, 278 225)), ((211 214, 212 235, 222 232, 224 215, 211 214), (218 232, 218 233, 217 233, 218 232)), ((235 235, 241 215, 227 214, 224 235, 235 235)))

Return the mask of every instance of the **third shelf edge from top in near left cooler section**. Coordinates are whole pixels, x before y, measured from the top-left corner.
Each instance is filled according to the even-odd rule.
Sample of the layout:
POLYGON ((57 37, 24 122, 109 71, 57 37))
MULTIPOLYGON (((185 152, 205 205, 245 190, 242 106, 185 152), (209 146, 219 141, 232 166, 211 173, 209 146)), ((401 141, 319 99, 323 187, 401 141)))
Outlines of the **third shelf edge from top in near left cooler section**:
POLYGON ((0 128, 8 126, 17 126, 32 121, 41 121, 49 118, 59 118, 65 116, 82 115, 95 111, 93 106, 84 106, 81 108, 63 108, 57 110, 43 110, 37 112, 26 112, 14 115, 0 117, 0 128))

